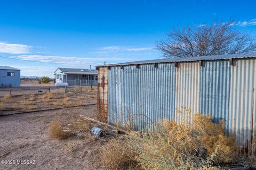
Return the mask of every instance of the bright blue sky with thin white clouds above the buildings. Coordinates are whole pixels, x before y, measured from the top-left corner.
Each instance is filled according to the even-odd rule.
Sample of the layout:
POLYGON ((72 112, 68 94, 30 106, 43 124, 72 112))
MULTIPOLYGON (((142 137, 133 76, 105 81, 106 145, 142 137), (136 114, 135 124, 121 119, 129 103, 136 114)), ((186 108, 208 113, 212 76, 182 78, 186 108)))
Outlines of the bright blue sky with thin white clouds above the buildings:
POLYGON ((57 67, 161 58, 155 43, 173 27, 238 21, 256 36, 255 1, 1 1, 0 65, 53 77, 57 67), (33 61, 33 62, 31 62, 33 61), (58 63, 58 64, 49 64, 58 63))

